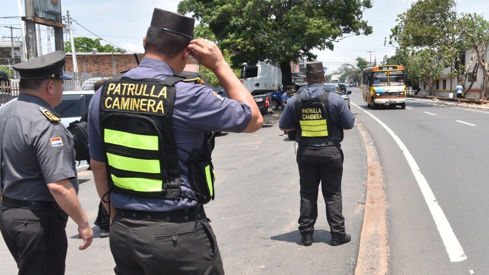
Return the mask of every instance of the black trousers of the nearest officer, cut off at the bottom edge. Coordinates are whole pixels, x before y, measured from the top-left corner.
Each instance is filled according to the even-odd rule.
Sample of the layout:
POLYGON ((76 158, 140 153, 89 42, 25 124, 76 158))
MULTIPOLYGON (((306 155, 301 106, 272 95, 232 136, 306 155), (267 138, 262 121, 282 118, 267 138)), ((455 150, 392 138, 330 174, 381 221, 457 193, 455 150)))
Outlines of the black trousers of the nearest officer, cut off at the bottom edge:
POLYGON ((117 275, 224 274, 207 218, 176 223, 116 215, 110 245, 117 275))

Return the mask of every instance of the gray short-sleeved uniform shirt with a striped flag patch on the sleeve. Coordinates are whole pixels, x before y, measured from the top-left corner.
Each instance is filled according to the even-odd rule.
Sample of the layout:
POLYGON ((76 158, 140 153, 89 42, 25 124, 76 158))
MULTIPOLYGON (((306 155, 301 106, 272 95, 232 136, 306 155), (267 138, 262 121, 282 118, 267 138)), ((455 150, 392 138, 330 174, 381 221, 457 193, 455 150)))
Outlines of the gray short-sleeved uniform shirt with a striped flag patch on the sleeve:
POLYGON ((47 184, 66 178, 78 192, 73 138, 40 107, 55 113, 44 100, 26 94, 0 108, 1 190, 12 199, 54 201, 47 184))

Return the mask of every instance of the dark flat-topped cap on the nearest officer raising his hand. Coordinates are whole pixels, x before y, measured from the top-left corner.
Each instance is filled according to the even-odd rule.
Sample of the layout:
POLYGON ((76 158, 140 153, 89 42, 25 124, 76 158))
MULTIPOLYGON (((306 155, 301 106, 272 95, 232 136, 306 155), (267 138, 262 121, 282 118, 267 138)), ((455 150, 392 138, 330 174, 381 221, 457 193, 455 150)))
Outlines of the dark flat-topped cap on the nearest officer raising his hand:
POLYGON ((150 27, 194 39, 194 24, 191 17, 155 8, 150 27))

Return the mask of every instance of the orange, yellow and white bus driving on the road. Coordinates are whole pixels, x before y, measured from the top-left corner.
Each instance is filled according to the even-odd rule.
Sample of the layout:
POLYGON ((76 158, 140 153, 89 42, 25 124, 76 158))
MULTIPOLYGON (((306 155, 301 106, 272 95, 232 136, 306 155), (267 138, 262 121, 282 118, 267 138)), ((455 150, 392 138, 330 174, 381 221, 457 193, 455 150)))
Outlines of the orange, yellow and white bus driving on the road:
POLYGON ((381 65, 363 70, 363 100, 373 109, 379 105, 406 107, 404 66, 381 65))

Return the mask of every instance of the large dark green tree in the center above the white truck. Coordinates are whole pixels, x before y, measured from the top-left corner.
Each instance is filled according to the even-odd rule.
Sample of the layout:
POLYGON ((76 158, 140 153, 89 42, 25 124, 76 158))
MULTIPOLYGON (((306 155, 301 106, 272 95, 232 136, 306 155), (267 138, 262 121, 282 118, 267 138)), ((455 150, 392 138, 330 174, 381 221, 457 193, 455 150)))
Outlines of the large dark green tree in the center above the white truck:
POLYGON ((235 67, 259 61, 277 64, 282 85, 291 84, 290 62, 314 60, 313 49, 333 49, 349 35, 368 35, 362 20, 371 0, 182 0, 178 12, 192 13, 229 50, 235 67))

